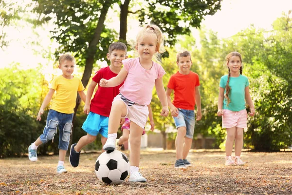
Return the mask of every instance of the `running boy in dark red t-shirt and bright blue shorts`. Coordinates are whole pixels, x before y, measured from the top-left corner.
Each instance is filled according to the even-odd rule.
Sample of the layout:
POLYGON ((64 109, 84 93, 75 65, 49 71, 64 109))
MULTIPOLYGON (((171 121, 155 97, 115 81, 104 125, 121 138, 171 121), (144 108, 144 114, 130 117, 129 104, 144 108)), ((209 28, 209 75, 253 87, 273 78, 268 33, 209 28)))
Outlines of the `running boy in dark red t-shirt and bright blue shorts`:
POLYGON ((87 97, 83 110, 88 116, 82 125, 82 129, 87 132, 87 135, 81 137, 77 144, 74 143, 71 145, 69 161, 73 167, 77 167, 79 164, 81 149, 93 142, 98 134, 101 134, 102 148, 108 138, 111 103, 113 98, 120 93, 120 87, 124 82, 116 87, 110 88, 99 87, 98 85, 98 89, 92 100, 91 97, 100 79, 113 78, 121 71, 122 60, 127 59, 127 46, 122 42, 110 44, 107 58, 110 60, 110 66, 101 68, 96 72, 87 90, 87 97))

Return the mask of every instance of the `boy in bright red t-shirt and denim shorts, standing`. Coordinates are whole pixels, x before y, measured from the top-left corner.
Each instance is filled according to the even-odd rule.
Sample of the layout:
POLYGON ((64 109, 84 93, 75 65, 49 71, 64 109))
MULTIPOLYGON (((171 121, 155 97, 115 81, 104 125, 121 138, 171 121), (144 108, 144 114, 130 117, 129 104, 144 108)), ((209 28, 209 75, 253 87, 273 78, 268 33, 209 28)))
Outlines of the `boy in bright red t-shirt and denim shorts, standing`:
POLYGON ((191 166, 186 159, 192 146, 195 128, 195 105, 197 103, 197 118, 201 120, 200 81, 197 73, 190 71, 192 65, 191 55, 188 51, 177 54, 177 65, 180 70, 169 79, 166 97, 170 112, 178 129, 175 139, 176 162, 174 167, 185 169, 191 166), (170 95, 174 91, 174 100, 170 95))

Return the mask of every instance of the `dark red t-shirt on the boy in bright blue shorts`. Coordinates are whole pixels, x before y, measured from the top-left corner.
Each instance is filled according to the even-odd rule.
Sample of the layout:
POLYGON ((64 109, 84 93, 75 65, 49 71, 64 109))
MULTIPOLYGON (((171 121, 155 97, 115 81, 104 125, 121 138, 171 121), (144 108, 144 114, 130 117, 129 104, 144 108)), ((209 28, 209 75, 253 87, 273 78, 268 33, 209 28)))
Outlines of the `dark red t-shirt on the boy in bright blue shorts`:
POLYGON ((110 116, 112 100, 120 93, 120 87, 124 82, 115 87, 99 87, 99 81, 102 78, 108 80, 115 76, 117 76, 117 74, 111 72, 110 66, 101 68, 95 73, 92 80, 98 83, 98 89, 95 92, 94 97, 91 99, 90 111, 92 113, 102 115, 104 117, 110 116))

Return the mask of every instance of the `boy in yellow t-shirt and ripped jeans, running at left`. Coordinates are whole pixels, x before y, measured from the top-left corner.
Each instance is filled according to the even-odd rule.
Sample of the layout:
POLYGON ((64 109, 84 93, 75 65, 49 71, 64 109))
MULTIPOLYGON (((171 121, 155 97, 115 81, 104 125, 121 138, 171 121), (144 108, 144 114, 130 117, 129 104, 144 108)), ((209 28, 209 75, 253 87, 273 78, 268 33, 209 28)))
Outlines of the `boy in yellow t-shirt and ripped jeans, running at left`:
POLYGON ((74 57, 70 54, 62 55, 59 58, 58 67, 62 70, 63 74, 53 80, 51 89, 39 109, 37 120, 41 120, 40 116, 44 113, 44 109, 50 103, 55 91, 56 96, 49 110, 43 134, 28 147, 28 158, 31 161, 37 161, 37 147, 42 143, 54 140, 58 126, 60 136, 57 173, 61 174, 67 172, 64 168, 64 160, 72 131, 73 109, 76 104, 77 92, 84 102, 86 100, 86 95, 83 91, 84 86, 81 80, 72 75, 75 67, 74 57))

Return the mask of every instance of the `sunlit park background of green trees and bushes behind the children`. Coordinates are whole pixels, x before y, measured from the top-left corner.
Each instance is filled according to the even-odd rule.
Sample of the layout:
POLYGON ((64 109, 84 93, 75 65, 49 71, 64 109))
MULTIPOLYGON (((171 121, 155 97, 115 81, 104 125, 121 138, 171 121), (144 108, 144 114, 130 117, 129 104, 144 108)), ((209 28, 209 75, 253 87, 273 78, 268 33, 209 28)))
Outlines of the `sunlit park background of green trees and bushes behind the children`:
MULTIPOLYGON (((74 55, 74 75, 87 86, 107 65, 113 41, 127 43, 128 56, 136 56, 132 46, 138 26, 148 22, 160 26, 165 35, 164 87, 178 71, 176 53, 186 49, 192 54, 191 70, 200 77, 202 107, 195 141, 209 138, 212 148, 224 150, 226 132, 216 114, 219 80, 227 74, 225 56, 238 51, 256 108, 255 117, 248 118, 244 149, 289 149, 291 9, 289 0, 0 0, 0 158, 26 155, 42 133, 49 106, 40 122, 36 117, 50 82, 60 74, 56 61, 61 54, 74 55)), ((84 102, 76 101, 71 143, 85 135, 84 102)), ((171 116, 160 116, 155 89, 151 108, 155 132, 162 135, 158 141, 166 149, 176 136, 171 131, 174 122, 171 116)), ((39 147, 38 155, 57 154, 57 145, 56 141, 39 147)), ((85 150, 100 147, 98 137, 85 150)))

